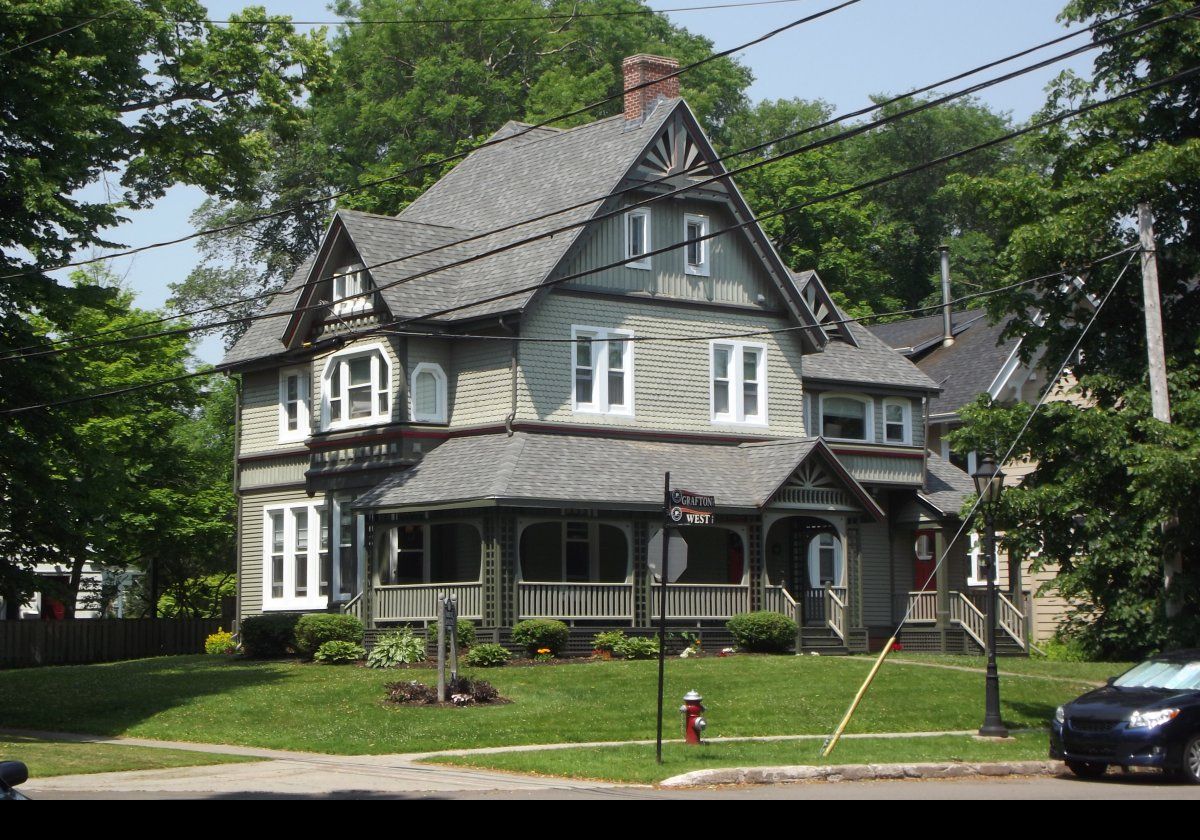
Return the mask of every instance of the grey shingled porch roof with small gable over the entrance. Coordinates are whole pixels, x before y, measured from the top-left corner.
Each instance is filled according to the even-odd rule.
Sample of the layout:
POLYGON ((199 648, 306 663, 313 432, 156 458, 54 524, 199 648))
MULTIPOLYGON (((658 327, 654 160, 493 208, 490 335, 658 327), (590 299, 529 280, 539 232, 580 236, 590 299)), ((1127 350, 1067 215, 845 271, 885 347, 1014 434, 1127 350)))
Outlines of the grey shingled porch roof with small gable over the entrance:
POLYGON ((820 458, 877 518, 883 511, 818 438, 740 445, 665 443, 515 432, 451 438, 410 469, 390 475, 356 508, 593 504, 662 506, 671 484, 716 498, 721 510, 758 510, 808 458, 820 458))

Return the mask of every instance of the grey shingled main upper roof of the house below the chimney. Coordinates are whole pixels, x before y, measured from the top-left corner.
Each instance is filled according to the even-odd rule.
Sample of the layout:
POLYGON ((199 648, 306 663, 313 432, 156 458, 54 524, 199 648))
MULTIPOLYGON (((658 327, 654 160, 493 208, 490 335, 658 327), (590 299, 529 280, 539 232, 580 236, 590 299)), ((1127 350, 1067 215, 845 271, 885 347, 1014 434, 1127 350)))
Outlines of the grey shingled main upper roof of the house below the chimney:
MULTIPOLYGON (((559 227, 593 218, 601 209, 610 209, 606 199, 589 200, 612 194, 637 168, 668 120, 682 120, 690 134, 697 138, 701 151, 710 161, 715 152, 703 138, 695 116, 683 100, 665 100, 640 122, 626 122, 624 116, 612 116, 570 130, 538 128, 512 137, 526 126, 510 122, 492 139, 512 137, 504 143, 485 145, 468 155, 437 184, 425 191, 391 218, 354 211, 338 211, 330 233, 349 236, 362 257, 374 286, 382 289, 384 302, 392 318, 427 317, 431 322, 463 322, 499 316, 523 310, 562 264, 571 246, 580 238, 583 226, 560 234, 522 244, 509 251, 480 257, 488 251, 515 245, 530 236, 559 227), (554 214, 540 221, 521 224, 511 230, 440 250, 427 257, 404 259, 380 268, 379 262, 400 259, 409 254, 456 242, 523 220, 581 204, 572 210, 554 214), (426 277, 401 282, 406 277, 476 257, 474 262, 456 265, 426 277), (391 286, 389 286, 391 284, 391 286), (386 288, 385 288, 386 287, 386 288), (452 312, 444 312, 454 310, 452 312)), ((716 164, 719 167, 719 163, 716 164)), ((726 193, 734 214, 749 218, 750 212, 732 181, 726 193)), ((750 226, 743 235, 751 238, 768 263, 780 294, 793 317, 816 326, 816 318, 788 280, 787 270, 766 236, 750 226)), ((294 306, 295 289, 328 276, 324 262, 329 256, 330 234, 322 252, 310 265, 307 277, 293 277, 283 294, 269 306, 294 306)), ((299 272, 298 272, 299 276, 299 272)), ((301 298, 308 302, 313 292, 301 298)), ((226 356, 222 365, 232 365, 280 352, 271 332, 284 332, 284 319, 256 322, 254 329, 226 356)), ((294 326, 294 325, 293 325, 294 326)), ((818 330, 804 330, 802 340, 820 347, 824 336, 818 330)))

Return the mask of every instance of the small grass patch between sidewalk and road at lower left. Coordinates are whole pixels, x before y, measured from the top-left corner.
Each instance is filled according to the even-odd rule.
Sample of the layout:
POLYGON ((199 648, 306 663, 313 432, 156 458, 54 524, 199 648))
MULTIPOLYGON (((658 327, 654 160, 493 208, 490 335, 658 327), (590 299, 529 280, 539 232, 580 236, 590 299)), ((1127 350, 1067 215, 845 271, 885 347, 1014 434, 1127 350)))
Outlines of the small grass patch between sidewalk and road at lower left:
POLYGON ((0 761, 23 761, 29 767, 30 779, 46 779, 76 773, 157 770, 168 767, 228 764, 257 760, 188 750, 160 750, 152 746, 73 744, 0 736, 0 761))

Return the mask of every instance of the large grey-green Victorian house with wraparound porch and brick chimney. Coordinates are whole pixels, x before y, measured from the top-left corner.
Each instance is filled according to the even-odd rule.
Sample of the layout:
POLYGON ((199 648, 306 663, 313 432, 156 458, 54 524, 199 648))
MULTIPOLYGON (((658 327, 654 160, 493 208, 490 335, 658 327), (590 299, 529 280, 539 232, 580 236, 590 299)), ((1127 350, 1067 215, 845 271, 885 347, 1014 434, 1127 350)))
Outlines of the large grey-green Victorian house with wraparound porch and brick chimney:
POLYGON ((911 606, 910 648, 977 649, 966 548, 934 571, 972 492, 926 448, 938 384, 781 262, 676 66, 626 59, 623 114, 505 125, 398 216, 336 214, 222 364, 239 616, 422 625, 454 593, 502 640, 648 628, 670 470, 716 500, 676 626, 775 610, 865 650, 911 606))

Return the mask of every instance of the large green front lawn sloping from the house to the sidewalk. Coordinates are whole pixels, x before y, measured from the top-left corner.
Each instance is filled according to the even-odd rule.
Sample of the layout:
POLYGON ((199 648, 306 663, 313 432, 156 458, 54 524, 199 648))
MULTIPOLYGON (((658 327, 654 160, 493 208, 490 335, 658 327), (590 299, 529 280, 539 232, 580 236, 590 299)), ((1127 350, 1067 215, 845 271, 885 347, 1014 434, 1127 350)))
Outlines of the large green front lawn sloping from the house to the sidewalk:
MULTIPOLYGON (((827 733, 871 660, 732 656, 667 662, 667 709, 704 695, 709 736, 827 733)), ((466 709, 389 708, 383 686, 433 677, 298 662, 178 656, 0 672, 4 726, 244 744, 344 755, 654 736, 656 662, 481 671, 514 702, 466 709)), ((1003 713, 1040 727, 1087 686, 1010 677, 1003 713)), ((983 715, 979 674, 883 668, 851 732, 966 730, 983 715)))

